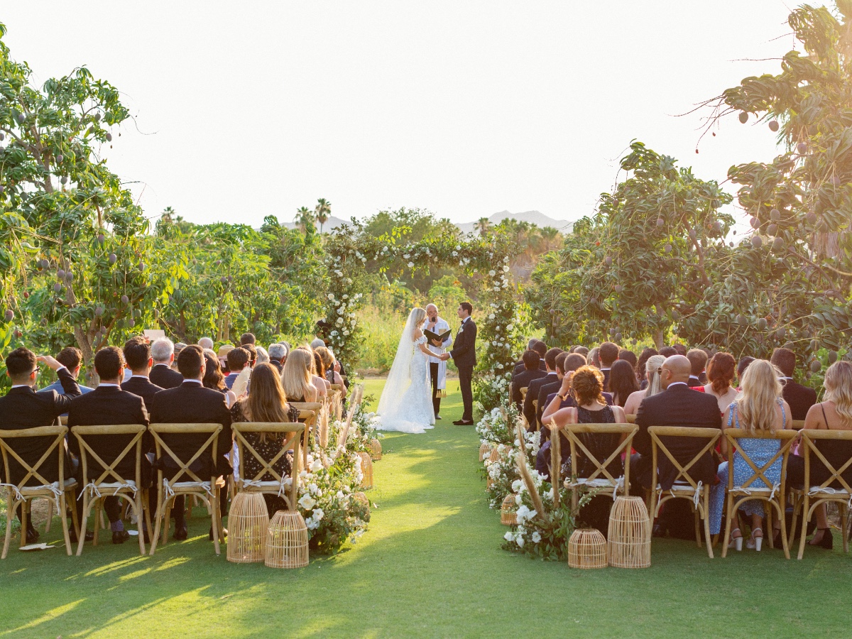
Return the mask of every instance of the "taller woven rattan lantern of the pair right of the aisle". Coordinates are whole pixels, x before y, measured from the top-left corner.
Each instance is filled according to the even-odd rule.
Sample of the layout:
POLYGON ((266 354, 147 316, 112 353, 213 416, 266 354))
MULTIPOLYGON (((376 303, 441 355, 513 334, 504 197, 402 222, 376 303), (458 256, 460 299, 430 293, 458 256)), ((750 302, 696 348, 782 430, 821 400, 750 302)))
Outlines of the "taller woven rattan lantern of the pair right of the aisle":
POLYGON ((641 497, 615 499, 609 514, 609 565, 647 568, 651 565, 651 525, 641 497))

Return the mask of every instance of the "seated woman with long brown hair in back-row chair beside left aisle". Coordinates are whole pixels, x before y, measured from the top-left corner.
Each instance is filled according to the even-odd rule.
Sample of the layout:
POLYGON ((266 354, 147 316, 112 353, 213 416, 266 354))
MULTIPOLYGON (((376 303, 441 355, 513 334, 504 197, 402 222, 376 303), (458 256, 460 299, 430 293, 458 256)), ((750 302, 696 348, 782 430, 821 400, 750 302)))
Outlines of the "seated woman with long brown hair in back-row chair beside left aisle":
MULTIPOLYGON (((258 364, 251 374, 251 392, 231 407, 232 422, 297 422, 299 409, 287 404, 284 387, 281 385, 278 371, 274 366, 258 364)), ((284 442, 282 435, 272 433, 245 433, 245 440, 266 461, 270 461, 281 452, 284 442)), ((245 456, 245 477, 255 479, 261 471, 261 463, 254 455, 245 456)), ((291 455, 288 453, 275 462, 273 468, 282 477, 290 475, 291 455)), ((274 481, 268 473, 257 481, 274 481)), ((277 495, 264 494, 269 512, 285 510, 284 499, 277 495)))

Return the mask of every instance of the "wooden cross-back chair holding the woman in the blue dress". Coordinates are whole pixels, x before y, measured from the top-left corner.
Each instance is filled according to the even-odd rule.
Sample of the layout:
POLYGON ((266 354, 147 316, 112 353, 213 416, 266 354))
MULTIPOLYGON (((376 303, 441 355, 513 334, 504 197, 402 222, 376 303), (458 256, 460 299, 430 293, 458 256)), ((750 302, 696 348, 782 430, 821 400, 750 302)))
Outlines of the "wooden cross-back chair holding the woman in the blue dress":
MULTIPOLYGON (((725 513, 725 543, 722 544, 722 557, 728 556, 727 539, 731 535, 731 527, 733 526, 734 518, 737 516, 737 511, 740 506, 747 501, 755 499, 768 504, 766 508, 766 527, 767 530, 772 530, 772 511, 778 515, 778 521, 781 525, 781 544, 784 546, 784 556, 790 559, 790 548, 787 542, 787 531, 785 521, 785 499, 786 492, 784 482, 787 471, 787 458, 790 453, 790 447, 793 440, 796 439, 798 433, 795 430, 776 430, 774 433, 767 431, 759 431, 750 433, 744 429, 726 429, 725 438, 728 440, 728 507, 725 513), (776 452, 767 463, 761 464, 759 467, 754 462, 748 453, 743 450, 740 440, 779 440, 778 452, 776 452), (743 482, 739 486, 734 486, 734 456, 738 455, 743 462, 747 463, 751 468, 752 475, 748 481, 743 482), (780 481, 774 483, 769 481, 766 473, 777 461, 781 462, 780 481), (763 482, 764 486, 756 486, 757 483, 763 482)), ((769 544, 772 547, 773 539, 769 535, 769 544)))

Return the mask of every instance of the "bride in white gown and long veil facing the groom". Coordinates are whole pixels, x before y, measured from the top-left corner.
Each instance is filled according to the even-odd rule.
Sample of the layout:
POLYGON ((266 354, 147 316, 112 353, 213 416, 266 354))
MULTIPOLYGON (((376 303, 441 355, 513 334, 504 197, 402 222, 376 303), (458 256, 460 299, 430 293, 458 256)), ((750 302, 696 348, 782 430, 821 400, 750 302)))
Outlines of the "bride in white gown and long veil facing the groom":
POLYGON ((412 308, 402 330, 394 364, 378 400, 378 416, 382 430, 423 433, 435 428, 435 409, 429 383, 429 356, 423 323, 426 311, 412 308))

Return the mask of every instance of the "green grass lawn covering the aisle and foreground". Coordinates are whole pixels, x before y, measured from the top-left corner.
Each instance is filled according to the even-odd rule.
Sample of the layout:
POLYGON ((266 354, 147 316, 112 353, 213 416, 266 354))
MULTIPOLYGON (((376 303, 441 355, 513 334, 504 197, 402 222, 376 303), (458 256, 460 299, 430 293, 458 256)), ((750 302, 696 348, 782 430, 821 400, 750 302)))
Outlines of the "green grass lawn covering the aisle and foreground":
MULTIPOLYGON (((378 394, 381 381, 369 381, 378 394)), ((654 540, 646 570, 571 570, 500 550, 458 383, 426 435, 389 435, 369 531, 307 568, 230 564, 199 517, 156 557, 127 543, 0 564, 0 636, 845 636, 852 559, 808 549, 707 558, 654 540)), ((203 513, 199 509, 199 515, 203 513)), ((56 542, 54 532, 44 538, 56 542)), ((837 535, 836 535, 837 537, 837 535)), ((836 541, 838 539, 836 538, 836 541)))

